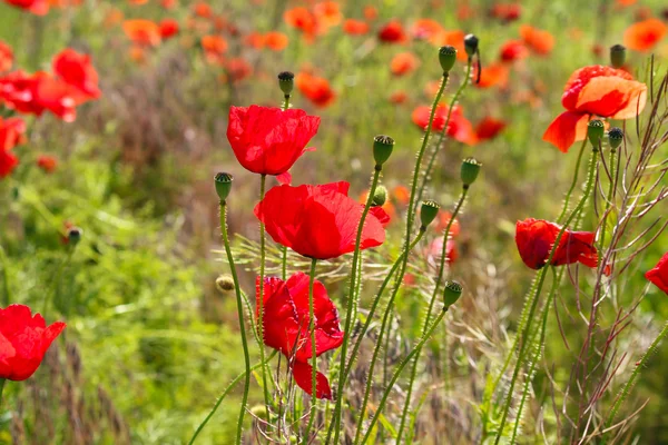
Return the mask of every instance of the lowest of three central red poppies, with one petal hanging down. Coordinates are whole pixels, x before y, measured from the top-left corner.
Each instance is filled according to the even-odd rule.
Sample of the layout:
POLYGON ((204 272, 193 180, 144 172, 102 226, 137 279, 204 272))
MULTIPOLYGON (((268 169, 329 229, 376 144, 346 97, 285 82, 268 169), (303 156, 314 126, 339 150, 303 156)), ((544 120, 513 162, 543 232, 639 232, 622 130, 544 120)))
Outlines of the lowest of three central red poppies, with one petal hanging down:
MULTIPOLYGON (((256 312, 259 315, 259 277, 256 279, 256 312)), ((306 274, 297 273, 287 281, 267 277, 263 290, 263 333, 264 344, 279 350, 289 360, 295 382, 306 393, 312 394, 312 370, 308 363, 313 347, 308 329, 310 278, 306 274)), ((343 344, 344 333, 338 323, 338 313, 334 303, 327 296, 325 286, 318 280, 313 284, 313 315, 315 316, 315 356, 320 357, 327 350, 343 344)), ((259 317, 258 317, 259 318, 259 317)), ((327 378, 317 373, 316 396, 332 398, 327 378)))

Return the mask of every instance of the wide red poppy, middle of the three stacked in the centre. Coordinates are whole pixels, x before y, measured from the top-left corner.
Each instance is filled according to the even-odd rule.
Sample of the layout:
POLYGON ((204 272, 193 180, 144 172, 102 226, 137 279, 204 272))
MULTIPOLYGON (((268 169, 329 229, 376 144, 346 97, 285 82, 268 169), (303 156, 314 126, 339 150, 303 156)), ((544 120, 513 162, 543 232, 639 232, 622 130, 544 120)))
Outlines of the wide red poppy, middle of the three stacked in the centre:
MULTIPOLYGON (((355 249, 362 217, 360 204, 347 196, 348 188, 350 184, 343 181, 274 187, 255 207, 255 216, 265 224, 274 241, 305 257, 336 258, 355 249)), ((385 241, 385 230, 376 215, 366 216, 361 249, 385 241)))

